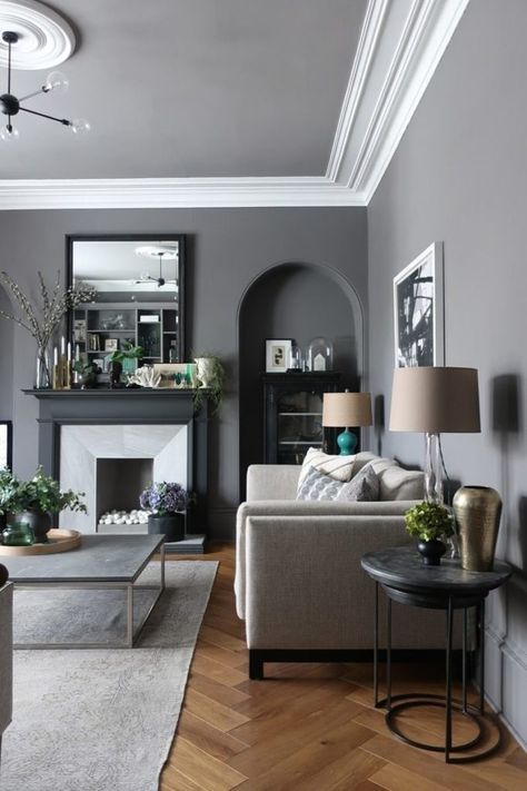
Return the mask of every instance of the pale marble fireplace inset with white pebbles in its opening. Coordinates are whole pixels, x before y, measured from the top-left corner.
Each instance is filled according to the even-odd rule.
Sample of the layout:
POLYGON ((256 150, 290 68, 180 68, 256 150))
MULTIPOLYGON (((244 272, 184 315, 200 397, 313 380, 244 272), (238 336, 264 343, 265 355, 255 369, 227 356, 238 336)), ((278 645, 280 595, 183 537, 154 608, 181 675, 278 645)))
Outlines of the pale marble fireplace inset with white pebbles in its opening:
POLYGON ((88 514, 64 511, 60 526, 82 533, 146 532, 141 491, 152 481, 176 481, 188 487, 187 434, 187 425, 173 424, 61 426, 60 486, 84 492, 88 514), (125 514, 119 515, 120 522, 103 518, 121 511, 136 511, 137 522, 125 514))

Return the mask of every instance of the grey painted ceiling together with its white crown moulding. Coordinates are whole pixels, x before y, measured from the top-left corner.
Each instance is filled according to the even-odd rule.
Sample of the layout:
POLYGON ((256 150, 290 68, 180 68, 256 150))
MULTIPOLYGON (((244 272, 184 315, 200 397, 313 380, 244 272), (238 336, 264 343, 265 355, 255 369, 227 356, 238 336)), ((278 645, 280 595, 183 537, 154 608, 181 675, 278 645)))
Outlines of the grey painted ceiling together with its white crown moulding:
POLYGON ((467 3, 57 0, 70 90, 28 107, 92 131, 17 116, 0 208, 366 205, 467 3))

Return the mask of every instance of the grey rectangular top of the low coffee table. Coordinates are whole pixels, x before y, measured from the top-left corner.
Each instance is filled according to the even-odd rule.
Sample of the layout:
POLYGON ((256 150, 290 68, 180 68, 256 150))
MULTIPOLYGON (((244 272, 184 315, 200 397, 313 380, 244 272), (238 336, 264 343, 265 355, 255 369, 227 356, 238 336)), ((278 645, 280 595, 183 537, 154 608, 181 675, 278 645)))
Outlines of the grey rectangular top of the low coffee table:
POLYGON ((71 552, 27 557, 2 557, 9 579, 17 583, 123 582, 137 580, 162 535, 82 535, 71 552))

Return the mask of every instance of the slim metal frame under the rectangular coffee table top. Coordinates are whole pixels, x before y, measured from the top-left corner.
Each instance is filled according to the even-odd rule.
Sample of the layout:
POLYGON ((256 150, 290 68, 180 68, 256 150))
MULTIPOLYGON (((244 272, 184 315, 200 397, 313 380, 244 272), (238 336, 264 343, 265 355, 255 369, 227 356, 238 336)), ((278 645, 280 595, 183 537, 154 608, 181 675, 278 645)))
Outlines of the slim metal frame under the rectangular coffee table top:
POLYGON ((140 566, 133 580, 120 581, 120 582, 13 582, 14 591, 21 590, 34 590, 34 589, 54 589, 54 590, 69 590, 69 591, 126 591, 127 593, 127 634, 123 641, 115 642, 99 642, 99 643, 69 643, 69 642, 54 642, 54 643, 13 643, 13 649, 131 649, 139 636, 142 627, 150 617, 150 614, 161 597, 165 591, 165 544, 153 547, 152 552, 146 557, 145 563, 140 566), (152 556, 159 552, 160 553, 160 584, 155 585, 135 585, 136 580, 142 574, 152 556), (133 591, 158 591, 158 594, 146 614, 141 617, 141 621, 133 630, 133 591))

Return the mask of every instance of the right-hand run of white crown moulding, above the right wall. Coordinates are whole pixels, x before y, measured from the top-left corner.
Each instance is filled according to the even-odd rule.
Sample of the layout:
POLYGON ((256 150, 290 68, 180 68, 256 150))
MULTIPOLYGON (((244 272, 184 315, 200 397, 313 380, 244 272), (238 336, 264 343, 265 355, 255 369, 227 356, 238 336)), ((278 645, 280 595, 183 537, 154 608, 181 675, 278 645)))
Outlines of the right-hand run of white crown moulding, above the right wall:
MULTIPOLYGON (((337 136, 348 136, 334 142, 340 156, 330 162, 336 182, 362 194, 367 204, 468 2, 390 0, 381 8, 381 0, 371 0, 368 69, 351 88, 355 96, 347 95, 350 118, 347 128, 339 123, 337 136)), ((366 58, 366 50, 359 57, 366 58)))

